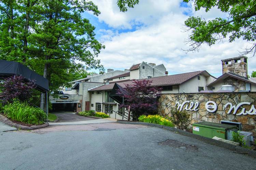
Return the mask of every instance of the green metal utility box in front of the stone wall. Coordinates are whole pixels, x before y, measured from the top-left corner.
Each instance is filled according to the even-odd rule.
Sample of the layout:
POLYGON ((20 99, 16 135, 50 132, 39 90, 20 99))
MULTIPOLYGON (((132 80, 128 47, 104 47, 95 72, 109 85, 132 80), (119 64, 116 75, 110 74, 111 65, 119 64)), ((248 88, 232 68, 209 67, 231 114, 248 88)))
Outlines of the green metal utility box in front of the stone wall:
POLYGON ((230 130, 236 130, 236 125, 229 125, 229 124, 220 124, 220 123, 212 123, 212 122, 198 122, 193 124, 193 133, 213 138, 217 136, 222 139, 227 139, 227 133, 230 130))

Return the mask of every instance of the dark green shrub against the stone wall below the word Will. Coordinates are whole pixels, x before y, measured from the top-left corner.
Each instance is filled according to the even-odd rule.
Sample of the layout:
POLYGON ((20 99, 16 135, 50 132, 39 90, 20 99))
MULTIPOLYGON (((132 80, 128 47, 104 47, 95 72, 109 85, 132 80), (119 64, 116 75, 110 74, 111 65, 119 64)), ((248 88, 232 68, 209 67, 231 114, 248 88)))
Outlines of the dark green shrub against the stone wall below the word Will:
POLYGON ((171 117, 169 118, 178 129, 186 130, 189 125, 189 114, 186 111, 178 109, 171 110, 171 117))

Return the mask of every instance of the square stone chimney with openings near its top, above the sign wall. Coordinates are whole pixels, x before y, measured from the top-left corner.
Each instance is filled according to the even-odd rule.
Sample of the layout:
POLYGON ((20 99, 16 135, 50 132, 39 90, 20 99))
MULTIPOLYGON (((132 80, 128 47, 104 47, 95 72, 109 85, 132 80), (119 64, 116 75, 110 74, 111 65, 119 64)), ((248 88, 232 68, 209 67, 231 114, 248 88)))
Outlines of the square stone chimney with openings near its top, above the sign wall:
POLYGON ((222 74, 231 72, 243 77, 248 76, 247 57, 234 57, 222 61, 222 74))

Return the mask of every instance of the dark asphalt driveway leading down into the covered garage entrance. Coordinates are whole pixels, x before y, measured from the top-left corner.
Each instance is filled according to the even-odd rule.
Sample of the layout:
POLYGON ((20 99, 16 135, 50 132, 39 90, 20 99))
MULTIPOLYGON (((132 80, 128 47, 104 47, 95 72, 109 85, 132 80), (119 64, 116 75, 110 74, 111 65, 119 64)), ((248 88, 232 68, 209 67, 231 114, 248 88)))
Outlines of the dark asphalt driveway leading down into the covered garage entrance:
POLYGON ((58 116, 58 122, 78 122, 86 120, 96 120, 95 118, 76 115, 74 112, 53 112, 52 114, 58 116))

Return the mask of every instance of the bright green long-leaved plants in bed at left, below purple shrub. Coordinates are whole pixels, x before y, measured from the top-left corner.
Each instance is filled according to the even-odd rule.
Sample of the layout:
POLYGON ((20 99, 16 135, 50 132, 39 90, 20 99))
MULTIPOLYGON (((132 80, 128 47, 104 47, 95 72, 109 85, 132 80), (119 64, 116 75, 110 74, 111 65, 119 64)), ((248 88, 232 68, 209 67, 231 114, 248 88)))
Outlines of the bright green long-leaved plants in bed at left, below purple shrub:
POLYGON ((45 113, 38 107, 29 106, 27 102, 17 99, 13 103, 8 103, 3 107, 6 117, 27 124, 41 124, 45 118, 45 113))

